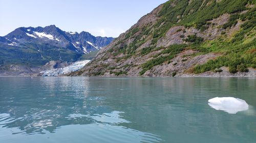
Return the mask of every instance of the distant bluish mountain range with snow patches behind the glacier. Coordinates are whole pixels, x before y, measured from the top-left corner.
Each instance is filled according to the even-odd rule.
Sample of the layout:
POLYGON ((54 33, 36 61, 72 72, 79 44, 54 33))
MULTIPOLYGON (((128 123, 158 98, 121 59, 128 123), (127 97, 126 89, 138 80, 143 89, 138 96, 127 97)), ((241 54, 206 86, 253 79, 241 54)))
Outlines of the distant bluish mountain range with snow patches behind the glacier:
POLYGON ((75 62, 93 58, 112 37, 95 37, 88 32, 65 32, 55 25, 19 27, 0 37, 0 65, 44 65, 49 61, 75 62))

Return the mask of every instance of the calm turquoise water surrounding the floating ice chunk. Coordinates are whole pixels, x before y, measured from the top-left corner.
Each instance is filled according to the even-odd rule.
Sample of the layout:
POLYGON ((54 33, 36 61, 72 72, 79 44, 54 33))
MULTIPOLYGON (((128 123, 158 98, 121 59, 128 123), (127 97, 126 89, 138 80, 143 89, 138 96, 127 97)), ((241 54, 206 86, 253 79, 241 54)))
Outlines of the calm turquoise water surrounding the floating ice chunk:
POLYGON ((0 142, 256 142, 255 78, 0 77, 0 142), (230 114, 214 97, 245 100, 230 114))

